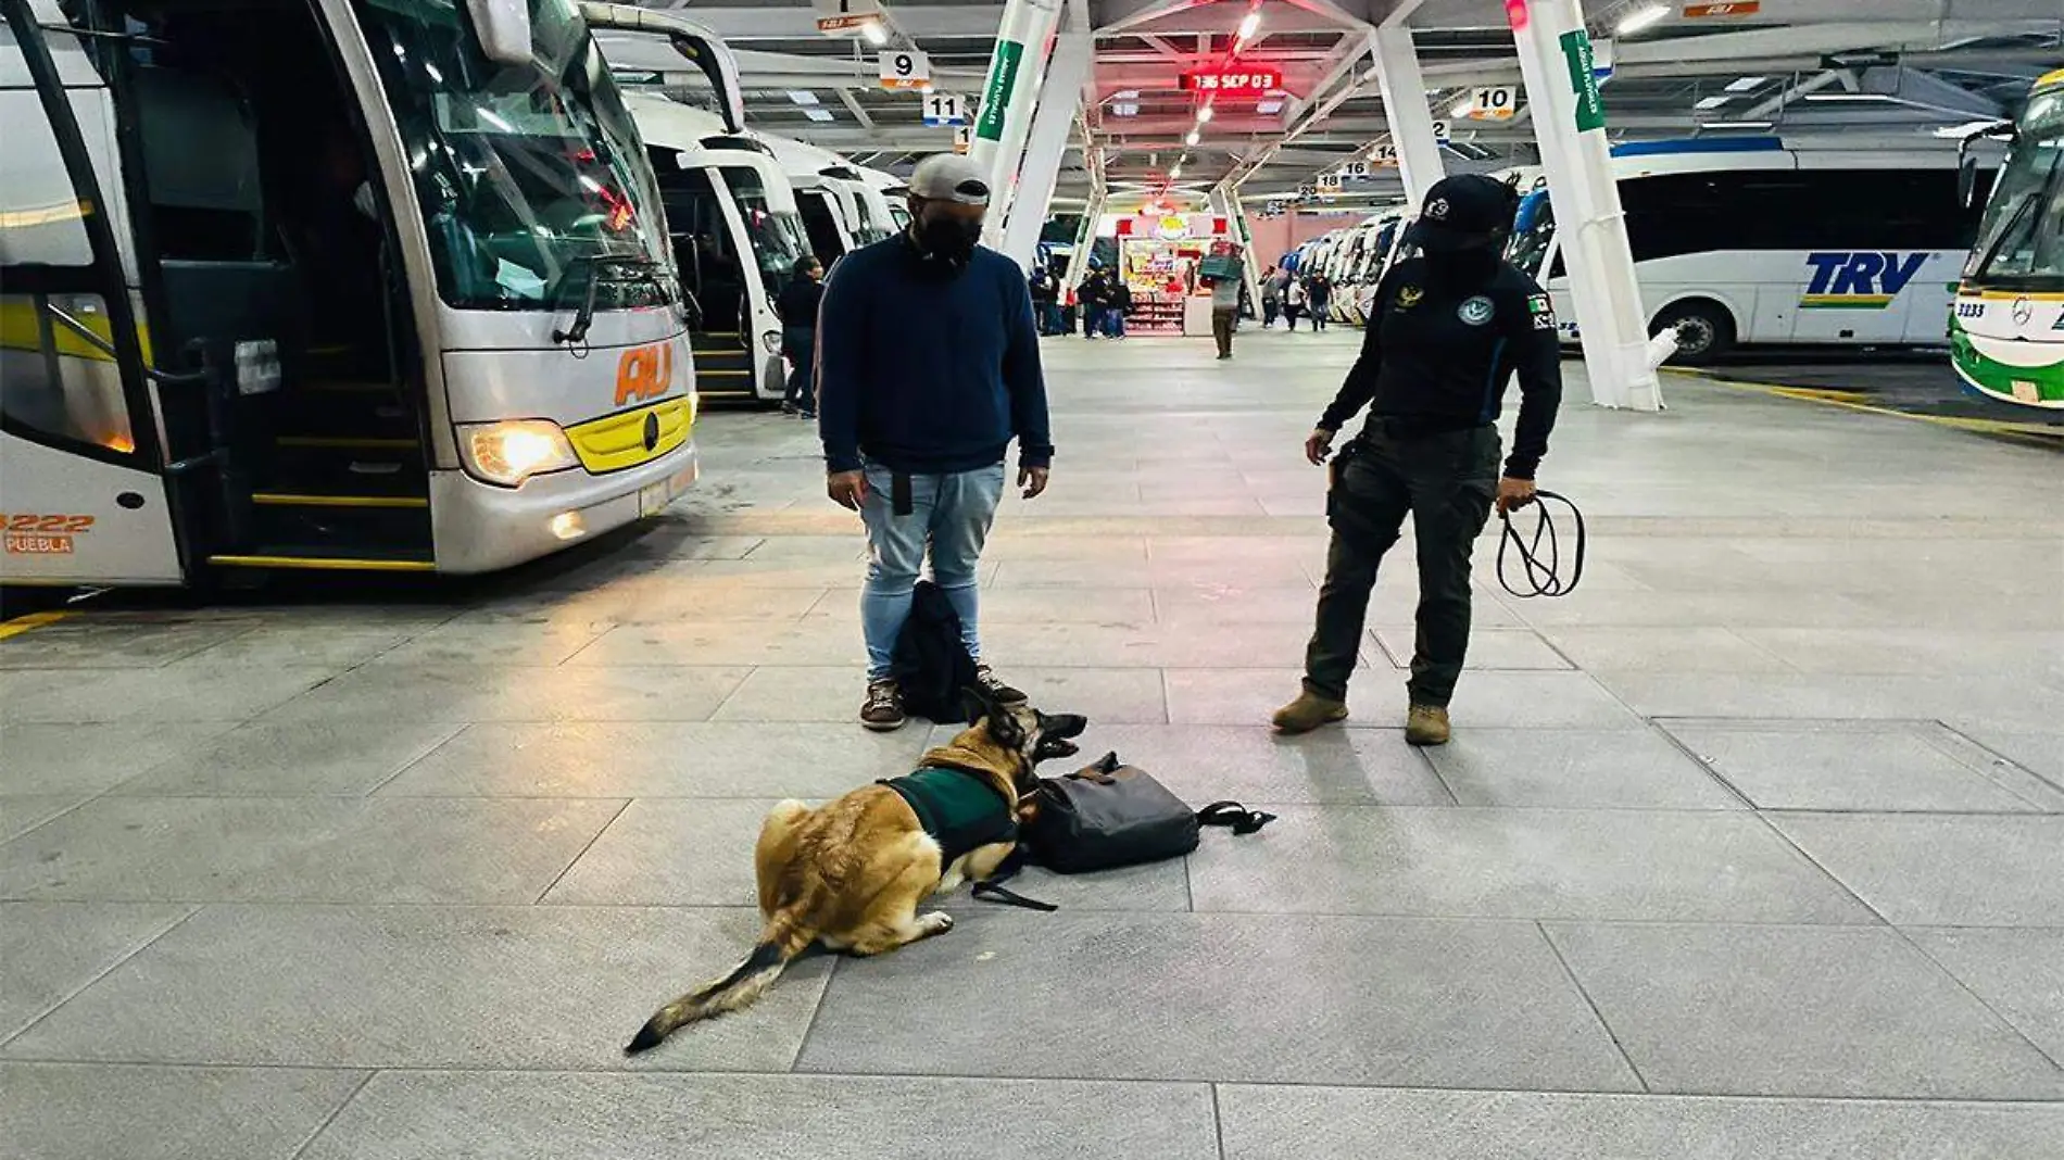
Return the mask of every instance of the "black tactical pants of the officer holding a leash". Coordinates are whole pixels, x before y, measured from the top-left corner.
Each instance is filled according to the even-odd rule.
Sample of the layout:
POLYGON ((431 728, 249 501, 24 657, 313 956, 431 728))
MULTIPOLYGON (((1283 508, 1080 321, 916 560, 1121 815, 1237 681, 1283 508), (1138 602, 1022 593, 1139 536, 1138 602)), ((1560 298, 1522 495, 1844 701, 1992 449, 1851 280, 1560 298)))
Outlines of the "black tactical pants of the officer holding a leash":
POLYGON ((1410 514, 1420 568, 1412 704, 1447 708, 1470 650, 1470 553, 1498 491, 1498 429, 1395 431, 1395 421, 1375 419, 1333 466, 1325 502, 1333 545, 1304 652, 1304 687, 1348 700, 1377 566, 1410 514))

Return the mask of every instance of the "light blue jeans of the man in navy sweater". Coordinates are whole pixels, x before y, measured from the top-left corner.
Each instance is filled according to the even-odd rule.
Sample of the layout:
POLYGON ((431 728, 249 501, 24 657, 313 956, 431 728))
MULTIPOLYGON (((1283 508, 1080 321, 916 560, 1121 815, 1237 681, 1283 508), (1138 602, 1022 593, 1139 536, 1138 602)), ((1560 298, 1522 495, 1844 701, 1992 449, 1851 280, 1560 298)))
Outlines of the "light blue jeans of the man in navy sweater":
POLYGON ((931 582, 960 615, 960 636, 968 654, 982 658, 974 627, 980 584, 982 541, 1003 500, 1003 464, 958 475, 912 475, 910 514, 898 516, 894 473, 867 464, 867 586, 861 588, 861 632, 867 636, 867 679, 890 675, 896 638, 910 619, 910 590, 931 549, 931 582))

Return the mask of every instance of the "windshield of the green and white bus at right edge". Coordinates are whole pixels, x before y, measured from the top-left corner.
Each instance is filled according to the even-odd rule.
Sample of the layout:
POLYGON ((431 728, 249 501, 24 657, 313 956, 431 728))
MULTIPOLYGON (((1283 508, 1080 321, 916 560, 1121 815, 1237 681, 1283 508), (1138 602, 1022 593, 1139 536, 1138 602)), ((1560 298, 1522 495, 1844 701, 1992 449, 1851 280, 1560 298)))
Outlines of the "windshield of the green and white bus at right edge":
MULTIPOLYGON (((1965 279, 1975 285, 2064 277, 2064 87, 2037 93, 2000 169, 1965 279)), ((2008 287, 2010 289, 2010 287, 2008 287)))

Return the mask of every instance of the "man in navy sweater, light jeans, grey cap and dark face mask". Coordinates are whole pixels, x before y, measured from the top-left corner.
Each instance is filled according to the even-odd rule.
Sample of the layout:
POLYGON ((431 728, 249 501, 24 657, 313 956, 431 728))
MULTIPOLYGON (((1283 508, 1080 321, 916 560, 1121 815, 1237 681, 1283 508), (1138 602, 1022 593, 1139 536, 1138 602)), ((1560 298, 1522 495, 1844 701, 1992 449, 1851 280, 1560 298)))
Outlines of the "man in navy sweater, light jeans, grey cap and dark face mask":
POLYGON ((1015 262, 978 246, 987 215, 987 173, 952 153, 927 157, 910 175, 910 229, 846 254, 817 314, 826 491, 867 524, 861 724, 881 733, 904 722, 890 663, 927 549, 985 689, 1026 700, 982 665, 976 572, 1011 440, 1032 500, 1046 489, 1053 438, 1032 295, 1015 262))

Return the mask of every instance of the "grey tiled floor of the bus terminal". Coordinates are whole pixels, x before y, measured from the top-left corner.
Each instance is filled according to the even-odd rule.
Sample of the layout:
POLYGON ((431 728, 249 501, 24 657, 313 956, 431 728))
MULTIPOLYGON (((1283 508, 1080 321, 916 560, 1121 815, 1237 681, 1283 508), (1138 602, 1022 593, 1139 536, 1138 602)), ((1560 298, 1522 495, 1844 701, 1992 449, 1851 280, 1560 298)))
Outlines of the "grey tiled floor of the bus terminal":
POLYGON ((1007 677, 1280 821, 1034 877, 1059 914, 954 900, 636 1061, 749 943, 768 803, 929 737, 850 722, 861 541, 807 427, 710 415, 658 526, 520 576, 6 640, 0 1152, 2064 1156, 2060 460, 1573 382, 1544 483, 1591 566, 1480 570, 1455 745, 1397 731, 1404 555, 1356 718, 1280 741, 1354 341, 1049 347, 1055 487, 985 570, 1007 677))

